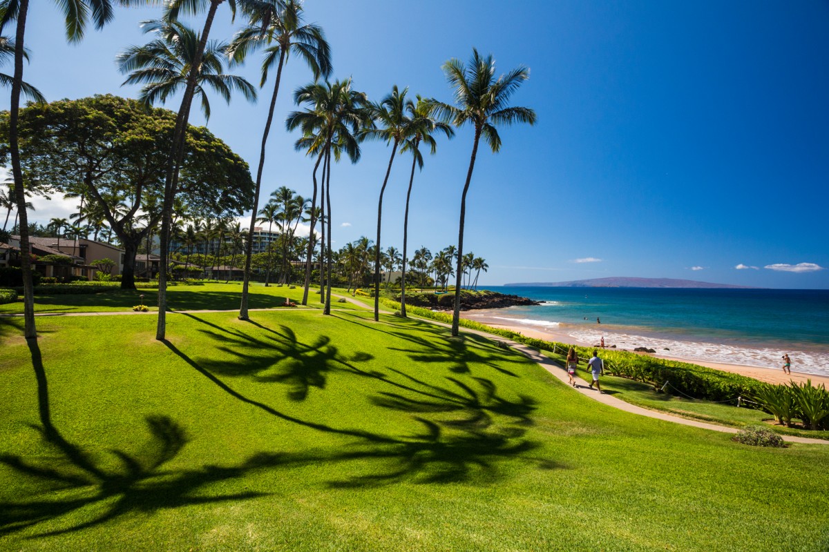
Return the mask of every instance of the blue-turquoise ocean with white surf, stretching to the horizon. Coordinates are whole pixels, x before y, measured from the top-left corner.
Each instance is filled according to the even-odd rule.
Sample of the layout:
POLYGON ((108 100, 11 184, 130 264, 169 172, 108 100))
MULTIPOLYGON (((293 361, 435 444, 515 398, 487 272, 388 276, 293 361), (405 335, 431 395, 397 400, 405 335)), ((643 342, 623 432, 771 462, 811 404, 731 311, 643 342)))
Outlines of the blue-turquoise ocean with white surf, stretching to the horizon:
POLYGON ((829 376, 829 290, 490 286, 542 305, 471 311, 567 334, 574 343, 656 349, 689 361, 780 367, 829 376), (600 320, 600 324, 596 319, 600 320))

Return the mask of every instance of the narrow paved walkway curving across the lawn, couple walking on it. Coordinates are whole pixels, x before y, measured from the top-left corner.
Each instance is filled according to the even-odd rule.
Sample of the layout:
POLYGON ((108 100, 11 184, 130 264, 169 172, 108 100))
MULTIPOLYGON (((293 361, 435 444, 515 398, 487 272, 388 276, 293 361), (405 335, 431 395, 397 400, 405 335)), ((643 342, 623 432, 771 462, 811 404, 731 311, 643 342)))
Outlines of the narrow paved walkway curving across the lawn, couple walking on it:
MULTIPOLYGON (((360 306, 366 310, 373 310, 372 307, 366 305, 365 303, 352 299, 351 297, 347 297, 345 295, 337 295, 332 293, 332 297, 337 297, 337 299, 344 298, 347 302, 351 303, 352 305, 360 306)), ((191 313, 206 313, 206 312, 235 312, 235 310, 171 310, 169 311, 171 314, 191 314, 191 313)), ((260 310, 279 310, 279 309, 250 309, 250 311, 260 311, 260 310)), ((288 310, 288 309, 285 309, 288 310)), ((388 310, 381 310, 383 314, 391 314, 388 310)), ((158 314, 158 311, 150 311, 150 312, 88 312, 88 313, 40 313, 36 314, 36 316, 109 316, 109 315, 124 315, 124 314, 158 314)), ((22 316, 22 314, 0 314, 0 316, 22 316)), ((425 319, 415 317, 419 320, 423 320, 424 322, 429 322, 429 324, 435 324, 437 326, 443 326, 444 328, 451 328, 449 324, 444 324, 443 322, 438 322, 437 320, 432 319, 425 319)), ((564 367, 561 367, 557 362, 552 360, 549 357, 545 357, 545 355, 541 354, 535 348, 531 348, 524 343, 518 343, 516 341, 512 341, 511 339, 503 338, 499 335, 495 334, 487 334, 486 332, 482 332, 477 329, 468 329, 468 328, 461 328, 461 331, 465 334, 476 334, 481 335, 485 338, 491 339, 492 341, 506 343, 511 348, 515 349, 517 352, 526 356, 526 358, 530 358, 531 360, 537 362, 541 365, 547 372, 550 372, 554 377, 557 377, 560 382, 564 383, 565 385, 569 386, 569 378, 566 375, 564 367)), ((580 378, 579 378, 580 379, 580 378)), ((574 391, 581 393, 584 396, 589 396, 589 398, 593 399, 594 401, 599 401, 604 405, 613 406, 613 408, 618 408, 618 410, 624 410, 625 412, 630 412, 632 414, 638 414, 642 416, 647 416, 648 418, 656 418, 657 420, 665 420, 669 422, 673 422, 674 424, 681 424, 681 425, 691 425, 692 427, 702 428, 704 430, 712 430, 712 431, 720 431, 722 433, 737 433, 737 430, 732 427, 726 427, 725 425, 715 425, 715 424, 707 424, 705 422, 696 421, 696 420, 688 420, 687 418, 681 418, 679 416, 666 414, 664 412, 660 412, 658 410, 648 410, 647 408, 642 408, 641 406, 635 406, 628 402, 625 402, 621 399, 617 399, 614 396, 607 395, 605 393, 599 393, 594 389, 590 389, 589 386, 584 384, 584 380, 582 381, 582 385, 577 383, 577 386, 574 388, 574 391)), ((829 440, 825 439, 812 439, 809 437, 797 437, 795 435, 784 435, 780 434, 784 441, 788 443, 806 443, 806 444, 829 444, 829 440)))

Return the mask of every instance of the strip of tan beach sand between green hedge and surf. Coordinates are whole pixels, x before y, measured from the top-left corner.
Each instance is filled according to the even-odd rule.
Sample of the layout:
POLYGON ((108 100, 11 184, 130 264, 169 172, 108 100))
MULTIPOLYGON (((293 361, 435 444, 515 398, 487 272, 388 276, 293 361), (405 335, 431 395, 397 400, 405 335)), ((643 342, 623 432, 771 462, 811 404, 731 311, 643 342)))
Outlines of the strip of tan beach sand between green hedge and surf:
MULTIPOLYGON (((503 313, 506 314, 506 313, 503 313)), ((558 341, 560 343, 573 343, 574 345, 580 345, 582 347, 593 347, 596 345, 595 341, 593 340, 584 340, 574 338, 570 332, 562 327, 560 324, 549 324, 544 328, 537 327, 536 325, 530 324, 522 324, 521 319, 510 319, 507 316, 503 316, 501 312, 498 311, 463 311, 461 313, 462 318, 474 320, 480 324, 486 324, 487 326, 492 326, 494 328, 503 328, 509 329, 513 332, 518 334, 526 335, 530 338, 537 338, 543 339, 545 341, 558 341)), ((610 340, 606 339, 605 344, 607 346, 613 344, 610 340)), ((624 350, 623 348, 618 348, 618 350, 624 350)), ((692 364, 699 364, 700 366, 714 368, 715 370, 723 370, 725 372, 734 372, 738 373, 742 376, 747 377, 754 377, 761 382, 768 382, 768 383, 788 383, 790 381, 795 382, 806 382, 808 379, 812 380, 812 384, 820 385, 821 383, 826 385, 829 388, 829 376, 823 376, 820 374, 813 374, 813 373, 805 373, 805 372, 797 372, 793 370, 791 374, 786 374, 783 372, 781 367, 763 367, 763 366, 749 366, 743 364, 730 364, 727 362, 710 362, 706 360, 701 360, 700 358, 681 358, 676 356, 668 356, 661 353, 639 353, 639 354, 648 354, 649 356, 655 358, 664 358, 667 360, 676 360, 681 362, 691 362, 692 364)), ((599 354, 601 356, 601 354, 599 354)), ((782 363, 781 363, 782 366, 782 363)))

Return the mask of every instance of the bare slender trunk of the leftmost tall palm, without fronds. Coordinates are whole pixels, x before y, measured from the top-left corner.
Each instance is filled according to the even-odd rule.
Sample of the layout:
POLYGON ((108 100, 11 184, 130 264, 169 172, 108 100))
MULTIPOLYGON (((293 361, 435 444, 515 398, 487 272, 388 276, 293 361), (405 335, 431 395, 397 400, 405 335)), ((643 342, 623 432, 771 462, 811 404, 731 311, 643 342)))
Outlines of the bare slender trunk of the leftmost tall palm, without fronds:
POLYGON ((17 43, 14 48, 14 77, 12 79, 12 101, 9 111, 9 150, 12 155, 14 177, 14 199, 17 216, 20 218, 20 267, 23 277, 23 335, 36 339, 35 288, 32 282, 32 257, 29 256, 29 219, 26 213, 26 190, 23 190, 23 172, 20 166, 20 146, 17 137, 17 123, 20 119, 20 91, 23 85, 23 37, 26 34, 28 0, 20 0, 17 8, 17 43))

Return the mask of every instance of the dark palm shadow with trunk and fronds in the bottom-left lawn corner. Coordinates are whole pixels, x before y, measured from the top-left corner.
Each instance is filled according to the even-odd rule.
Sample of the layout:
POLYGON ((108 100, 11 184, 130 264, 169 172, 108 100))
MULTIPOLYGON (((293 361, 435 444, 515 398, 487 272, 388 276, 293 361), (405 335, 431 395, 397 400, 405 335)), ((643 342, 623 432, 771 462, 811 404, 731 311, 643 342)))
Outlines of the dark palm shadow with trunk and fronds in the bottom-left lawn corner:
POLYGON ((260 492, 240 492, 219 496, 199 496, 214 482, 243 477, 260 468, 273 467, 281 458, 273 454, 255 454, 239 466, 221 468, 205 465, 197 469, 169 470, 164 465, 187 444, 184 430, 163 415, 146 421, 149 439, 133 453, 109 450, 119 460, 118 468, 104 468, 80 446, 70 443, 51 421, 48 382, 41 351, 35 339, 27 341, 37 380, 38 414, 41 425, 32 426, 41 433, 48 457, 23 458, 15 454, 0 455, 0 463, 11 468, 21 479, 45 489, 46 498, 20 502, 0 502, 0 535, 10 534, 43 521, 98 505, 104 511, 89 521, 50 530, 31 538, 60 535, 98 526, 134 512, 152 512, 162 508, 245 500, 264 496, 260 492), (49 494, 61 491, 59 495, 49 494), (75 491, 67 493, 67 491, 75 491), (71 494, 71 496, 67 496, 71 494))

